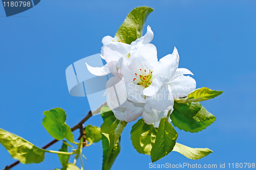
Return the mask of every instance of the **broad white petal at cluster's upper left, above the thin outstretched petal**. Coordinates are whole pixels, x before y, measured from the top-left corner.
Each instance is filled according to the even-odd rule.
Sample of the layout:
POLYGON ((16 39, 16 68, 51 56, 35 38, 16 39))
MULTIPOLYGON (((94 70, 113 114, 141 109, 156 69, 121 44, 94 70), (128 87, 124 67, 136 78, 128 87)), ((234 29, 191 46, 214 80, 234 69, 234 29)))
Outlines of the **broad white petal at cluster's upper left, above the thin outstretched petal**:
POLYGON ((103 47, 103 56, 107 63, 118 61, 122 56, 126 56, 131 48, 130 44, 122 42, 110 42, 103 47))

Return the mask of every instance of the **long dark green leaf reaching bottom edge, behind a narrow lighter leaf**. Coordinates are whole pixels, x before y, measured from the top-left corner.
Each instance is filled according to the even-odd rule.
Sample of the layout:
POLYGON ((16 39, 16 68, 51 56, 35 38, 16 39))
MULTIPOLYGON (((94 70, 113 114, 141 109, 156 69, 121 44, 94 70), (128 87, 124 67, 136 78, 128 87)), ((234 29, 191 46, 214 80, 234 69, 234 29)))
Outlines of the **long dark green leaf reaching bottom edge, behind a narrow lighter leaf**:
POLYGON ((100 130, 102 133, 102 149, 103 149, 103 163, 102 163, 102 170, 109 170, 114 163, 117 155, 119 154, 121 147, 120 147, 120 138, 117 140, 117 142, 114 145, 114 148, 109 156, 108 149, 109 149, 109 129, 111 125, 115 122, 116 117, 110 116, 106 119, 104 119, 104 123, 101 125, 100 130))

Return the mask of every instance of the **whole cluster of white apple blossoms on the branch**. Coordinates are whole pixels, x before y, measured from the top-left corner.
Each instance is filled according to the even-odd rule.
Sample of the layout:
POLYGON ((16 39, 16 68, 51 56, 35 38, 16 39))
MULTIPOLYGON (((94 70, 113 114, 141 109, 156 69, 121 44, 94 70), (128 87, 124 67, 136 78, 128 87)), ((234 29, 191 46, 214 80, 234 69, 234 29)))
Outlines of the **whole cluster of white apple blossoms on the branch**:
MULTIPOLYGON (((88 70, 97 76, 110 72, 112 77, 106 87, 106 102, 119 120, 132 122, 141 114, 146 124, 158 127, 160 119, 173 111, 174 99, 187 96, 196 89, 196 81, 186 68, 178 68, 179 54, 157 59, 156 46, 151 44, 154 34, 150 26, 141 38, 130 44, 118 42, 111 36, 102 39, 103 67, 88 70), (115 86, 115 88, 109 88, 115 86), (118 93, 118 96, 117 96, 118 93), (118 100, 118 102, 117 102, 118 100)), ((169 119, 170 121, 170 119, 169 119)))

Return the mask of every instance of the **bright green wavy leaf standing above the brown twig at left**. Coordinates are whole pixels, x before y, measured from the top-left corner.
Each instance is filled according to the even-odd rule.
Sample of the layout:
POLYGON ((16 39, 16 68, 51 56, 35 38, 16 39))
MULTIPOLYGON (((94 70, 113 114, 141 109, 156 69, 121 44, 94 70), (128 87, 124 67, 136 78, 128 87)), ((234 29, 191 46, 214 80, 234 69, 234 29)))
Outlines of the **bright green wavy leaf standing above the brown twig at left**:
POLYGON ((66 113, 63 109, 55 108, 43 113, 45 118, 42 119, 42 125, 48 133, 57 140, 66 138, 69 142, 74 143, 74 138, 70 127, 65 123, 66 113))

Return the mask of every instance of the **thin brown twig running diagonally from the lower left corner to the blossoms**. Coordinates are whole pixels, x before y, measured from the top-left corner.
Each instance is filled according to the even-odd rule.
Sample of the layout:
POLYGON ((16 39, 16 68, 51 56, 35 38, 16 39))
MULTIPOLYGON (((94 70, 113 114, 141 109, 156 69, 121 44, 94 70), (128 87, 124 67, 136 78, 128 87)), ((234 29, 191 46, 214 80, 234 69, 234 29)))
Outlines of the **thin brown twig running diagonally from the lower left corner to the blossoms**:
MULTIPOLYGON (((75 131, 76 129, 79 129, 80 126, 86 122, 86 120, 88 120, 93 114, 97 114, 99 113, 100 109, 102 106, 106 105, 106 103, 103 103, 100 107, 98 107, 96 110, 89 111, 88 114, 86 115, 86 117, 84 117, 78 124, 76 124, 75 126, 73 126, 73 128, 71 128, 71 131, 75 131)), ((54 139, 51 142, 47 143, 44 147, 42 147, 42 149, 47 149, 49 148, 51 145, 53 145, 54 143, 56 143, 58 140, 54 139)), ((19 164, 19 161, 13 162, 12 164, 10 164, 9 166, 6 166, 3 170, 9 170, 12 167, 16 166, 17 164, 19 164)))

